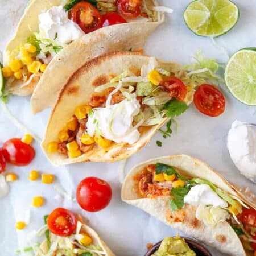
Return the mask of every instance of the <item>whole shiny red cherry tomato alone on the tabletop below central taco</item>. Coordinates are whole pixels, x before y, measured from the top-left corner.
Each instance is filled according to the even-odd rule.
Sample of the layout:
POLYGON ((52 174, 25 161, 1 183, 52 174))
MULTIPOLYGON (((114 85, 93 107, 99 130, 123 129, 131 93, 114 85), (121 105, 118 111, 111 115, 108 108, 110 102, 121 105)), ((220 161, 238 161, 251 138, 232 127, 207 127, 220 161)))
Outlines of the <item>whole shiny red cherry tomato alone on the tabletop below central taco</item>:
POLYGON ((112 189, 106 181, 97 177, 82 180, 76 190, 76 199, 80 207, 88 212, 104 209, 112 198, 112 189))

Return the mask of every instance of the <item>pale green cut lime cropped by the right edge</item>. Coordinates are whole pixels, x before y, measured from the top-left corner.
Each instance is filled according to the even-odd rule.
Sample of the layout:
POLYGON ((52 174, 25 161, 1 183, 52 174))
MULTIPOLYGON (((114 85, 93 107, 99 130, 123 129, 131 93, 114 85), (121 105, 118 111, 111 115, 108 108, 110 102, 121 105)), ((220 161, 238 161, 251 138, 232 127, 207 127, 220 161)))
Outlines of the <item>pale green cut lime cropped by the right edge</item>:
POLYGON ((256 48, 234 53, 226 65, 225 82, 237 100, 256 106, 256 48))

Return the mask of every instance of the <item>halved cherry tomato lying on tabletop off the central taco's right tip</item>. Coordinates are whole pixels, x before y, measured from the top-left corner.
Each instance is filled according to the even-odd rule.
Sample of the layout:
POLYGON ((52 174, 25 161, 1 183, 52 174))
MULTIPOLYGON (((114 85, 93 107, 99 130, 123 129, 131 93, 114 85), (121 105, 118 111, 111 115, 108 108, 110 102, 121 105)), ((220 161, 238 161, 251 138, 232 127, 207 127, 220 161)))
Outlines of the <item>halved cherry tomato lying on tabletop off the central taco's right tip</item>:
POLYGON ((220 90, 209 84, 200 85, 194 95, 196 108, 210 117, 217 117, 225 110, 225 98, 220 90))

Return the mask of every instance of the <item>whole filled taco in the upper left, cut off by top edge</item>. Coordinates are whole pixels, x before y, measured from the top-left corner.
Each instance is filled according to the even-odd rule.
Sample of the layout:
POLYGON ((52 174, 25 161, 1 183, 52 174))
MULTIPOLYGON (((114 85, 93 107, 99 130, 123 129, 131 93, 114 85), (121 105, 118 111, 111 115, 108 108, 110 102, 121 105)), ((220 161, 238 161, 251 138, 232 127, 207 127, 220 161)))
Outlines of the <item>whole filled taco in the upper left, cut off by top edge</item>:
POLYGON ((3 53, 5 94, 26 96, 38 85, 34 112, 53 106, 61 87, 85 60, 109 51, 142 49, 163 22, 157 5, 155 0, 30 1, 3 53))

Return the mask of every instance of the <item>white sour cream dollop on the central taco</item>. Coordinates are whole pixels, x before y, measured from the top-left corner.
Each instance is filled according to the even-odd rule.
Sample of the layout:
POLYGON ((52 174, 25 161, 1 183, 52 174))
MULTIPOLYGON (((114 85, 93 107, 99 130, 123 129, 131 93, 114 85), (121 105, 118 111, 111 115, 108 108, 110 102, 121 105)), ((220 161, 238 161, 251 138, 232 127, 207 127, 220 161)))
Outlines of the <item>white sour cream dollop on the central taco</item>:
POLYGON ((135 93, 129 100, 125 99, 108 108, 94 108, 93 115, 88 118, 87 132, 93 137, 99 129, 106 139, 133 144, 140 137, 138 129, 133 127, 133 118, 139 114, 140 108, 135 93))

